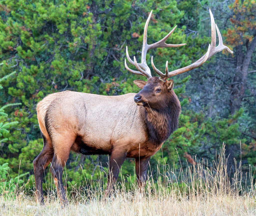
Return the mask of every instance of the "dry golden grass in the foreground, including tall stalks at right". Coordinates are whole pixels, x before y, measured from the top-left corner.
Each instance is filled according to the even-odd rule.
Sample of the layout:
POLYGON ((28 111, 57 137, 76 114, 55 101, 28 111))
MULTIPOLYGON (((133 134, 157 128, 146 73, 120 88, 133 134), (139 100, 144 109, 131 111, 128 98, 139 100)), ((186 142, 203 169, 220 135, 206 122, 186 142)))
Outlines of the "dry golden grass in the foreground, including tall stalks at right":
MULTIPOLYGON (((45 206, 23 193, 15 199, 5 194, 0 196, 0 215, 256 215, 255 187, 242 186, 241 163, 230 185, 225 161, 222 153, 211 168, 204 161, 186 170, 168 168, 158 174, 161 181, 149 178, 144 193, 120 183, 108 200, 98 185, 86 195, 70 197, 66 208, 56 194, 46 198, 45 206)), ((252 183, 253 176, 248 178, 252 183)))

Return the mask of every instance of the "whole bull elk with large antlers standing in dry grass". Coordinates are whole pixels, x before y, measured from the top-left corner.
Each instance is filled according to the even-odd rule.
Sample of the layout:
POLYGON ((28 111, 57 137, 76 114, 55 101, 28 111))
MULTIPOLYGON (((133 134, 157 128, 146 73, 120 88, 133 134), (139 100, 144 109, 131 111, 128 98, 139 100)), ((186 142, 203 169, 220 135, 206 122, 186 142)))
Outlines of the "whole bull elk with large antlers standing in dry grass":
POLYGON ((143 35, 141 63, 134 61, 128 54, 128 61, 137 70, 128 71, 147 77, 147 81, 134 80, 140 92, 119 96, 103 96, 73 91, 63 91, 46 96, 37 104, 37 117, 44 140, 40 154, 33 161, 37 202, 44 204, 42 176, 50 165, 50 172, 57 187, 62 205, 67 205, 67 197, 62 183, 62 171, 70 151, 85 155, 111 155, 107 193, 116 182, 120 167, 125 158, 135 158, 137 182, 144 184, 150 157, 154 155, 178 127, 181 111, 179 100, 173 91, 173 80, 168 78, 184 73, 204 64, 211 56, 222 50, 233 53, 223 45, 222 38, 214 17, 211 18, 211 44, 206 54, 195 63, 168 71, 166 62, 165 74, 158 70, 153 57, 151 64, 159 77, 152 77, 146 63, 146 53, 157 47, 179 47, 185 44, 166 44, 175 26, 162 40, 147 44, 147 27, 151 18, 149 14, 143 35), (219 45, 216 47, 216 30, 219 45))

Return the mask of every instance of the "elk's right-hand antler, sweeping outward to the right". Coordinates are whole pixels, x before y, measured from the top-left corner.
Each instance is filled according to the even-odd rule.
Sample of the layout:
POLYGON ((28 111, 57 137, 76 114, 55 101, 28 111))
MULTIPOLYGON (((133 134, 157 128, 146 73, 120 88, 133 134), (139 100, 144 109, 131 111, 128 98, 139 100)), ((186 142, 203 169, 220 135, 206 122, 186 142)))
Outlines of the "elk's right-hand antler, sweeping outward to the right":
POLYGON ((227 46, 223 45, 220 31, 219 31, 217 25, 215 24, 214 17, 212 15, 210 9, 209 9, 209 11, 210 11, 210 17, 211 17, 211 44, 209 44, 209 47, 208 47, 208 50, 207 50, 206 54, 204 54, 200 59, 198 59, 193 64, 188 65, 188 66, 183 67, 183 68, 180 68, 180 69, 177 69, 177 70, 174 70, 174 71, 171 71, 171 72, 168 72, 168 65, 167 65, 168 61, 167 61, 166 62, 166 67, 165 67, 165 74, 163 74, 160 70, 158 70, 155 67, 155 65, 153 63, 153 56, 152 56, 151 64, 152 64, 153 69, 156 71, 156 73, 160 75, 159 79, 165 81, 169 77, 175 76, 177 74, 182 74, 184 72, 187 72, 189 70, 197 68, 197 67, 201 66, 202 64, 204 64, 214 54, 216 54, 217 52, 220 52, 222 50, 227 50, 229 53, 233 53, 233 51, 231 51, 227 46), (217 30, 217 33, 218 33, 218 38, 219 38, 219 45, 217 47, 215 47, 216 46, 216 30, 215 30, 215 27, 216 27, 216 30, 217 30))

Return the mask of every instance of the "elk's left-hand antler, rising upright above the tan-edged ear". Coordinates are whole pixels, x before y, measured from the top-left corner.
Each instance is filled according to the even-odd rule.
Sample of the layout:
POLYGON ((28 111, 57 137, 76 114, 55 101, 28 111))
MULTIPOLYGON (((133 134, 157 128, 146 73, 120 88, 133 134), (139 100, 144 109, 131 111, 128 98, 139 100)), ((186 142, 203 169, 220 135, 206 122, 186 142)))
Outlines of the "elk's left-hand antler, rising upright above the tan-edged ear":
MULTIPOLYGON (((175 28, 177 26, 175 26, 173 28, 173 30, 170 31, 169 34, 167 34, 162 40, 160 40, 156 43, 153 43, 153 44, 147 44, 147 27, 148 27, 148 23, 149 23, 152 11, 153 10, 151 10, 151 12, 147 18, 145 27, 144 27, 143 44, 142 44, 142 52, 141 52, 141 63, 137 63, 135 56, 134 56, 134 61, 132 61, 132 59, 130 58, 130 56, 128 54, 128 48, 126 46, 127 59, 132 65, 135 65, 135 67, 138 69, 138 71, 130 69, 126 64, 126 59, 124 60, 124 65, 127 70, 129 70, 130 72, 132 72, 134 74, 143 75, 143 76, 147 77, 148 79, 152 77, 150 68, 147 66, 147 63, 146 63, 146 54, 147 54, 148 50, 154 49, 157 47, 178 47, 178 46, 186 45, 185 43, 183 43, 183 44, 166 44, 165 43, 165 41, 170 37, 170 35, 173 33, 173 31, 175 30, 175 28)), ((157 70, 157 71, 156 71, 156 73, 158 73, 162 77, 163 73, 159 70, 157 70)), ((167 74, 168 74, 168 68, 167 68, 167 74)))

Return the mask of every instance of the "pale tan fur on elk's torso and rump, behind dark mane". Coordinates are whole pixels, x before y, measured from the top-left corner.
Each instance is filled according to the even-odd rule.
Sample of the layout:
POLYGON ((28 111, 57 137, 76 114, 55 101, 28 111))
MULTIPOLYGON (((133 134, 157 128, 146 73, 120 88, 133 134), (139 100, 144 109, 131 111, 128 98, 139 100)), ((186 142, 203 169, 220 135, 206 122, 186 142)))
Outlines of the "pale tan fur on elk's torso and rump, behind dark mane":
POLYGON ((155 148, 147 140, 145 122, 141 117, 141 110, 145 108, 134 103, 134 95, 103 96, 72 91, 50 94, 37 105, 40 129, 46 139, 51 139, 59 157, 63 149, 64 152, 70 149, 80 152, 81 142, 76 142, 77 137, 84 148, 109 154, 112 149, 119 149, 127 152, 127 157, 149 157, 161 145, 155 148), (68 137, 64 137, 65 134, 68 137))

